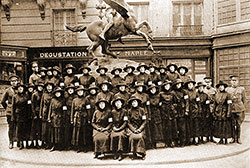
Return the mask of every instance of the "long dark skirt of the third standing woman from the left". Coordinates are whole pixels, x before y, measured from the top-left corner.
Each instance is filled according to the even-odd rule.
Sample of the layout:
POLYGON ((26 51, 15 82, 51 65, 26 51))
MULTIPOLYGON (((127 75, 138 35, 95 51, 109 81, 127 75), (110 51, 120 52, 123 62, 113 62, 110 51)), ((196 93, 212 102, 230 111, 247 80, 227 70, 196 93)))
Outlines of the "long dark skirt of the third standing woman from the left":
POLYGON ((42 133, 42 123, 39 118, 32 120, 31 140, 40 140, 42 133))

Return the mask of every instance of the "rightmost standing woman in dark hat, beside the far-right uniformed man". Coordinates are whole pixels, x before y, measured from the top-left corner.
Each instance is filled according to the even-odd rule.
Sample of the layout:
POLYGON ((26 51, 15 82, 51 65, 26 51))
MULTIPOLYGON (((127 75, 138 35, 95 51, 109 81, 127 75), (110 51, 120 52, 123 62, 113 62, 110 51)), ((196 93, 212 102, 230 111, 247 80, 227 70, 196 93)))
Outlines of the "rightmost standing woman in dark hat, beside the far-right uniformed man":
POLYGON ((216 85, 219 92, 215 95, 214 136, 220 138, 219 144, 227 144, 227 138, 232 137, 232 99, 225 91, 227 86, 222 81, 216 85))

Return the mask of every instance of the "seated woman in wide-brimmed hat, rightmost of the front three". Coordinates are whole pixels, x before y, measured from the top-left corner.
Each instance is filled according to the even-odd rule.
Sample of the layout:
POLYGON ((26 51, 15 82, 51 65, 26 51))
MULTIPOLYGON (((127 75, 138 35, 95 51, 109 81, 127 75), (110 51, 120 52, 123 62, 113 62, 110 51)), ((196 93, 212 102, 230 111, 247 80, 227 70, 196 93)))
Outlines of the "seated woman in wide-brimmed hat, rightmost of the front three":
POLYGON ((130 152, 133 153, 132 160, 139 157, 145 159, 146 146, 145 146, 145 125, 146 114, 144 109, 139 106, 141 100, 134 96, 128 101, 131 106, 128 110, 128 136, 130 152), (138 155, 137 155, 138 154, 138 155))

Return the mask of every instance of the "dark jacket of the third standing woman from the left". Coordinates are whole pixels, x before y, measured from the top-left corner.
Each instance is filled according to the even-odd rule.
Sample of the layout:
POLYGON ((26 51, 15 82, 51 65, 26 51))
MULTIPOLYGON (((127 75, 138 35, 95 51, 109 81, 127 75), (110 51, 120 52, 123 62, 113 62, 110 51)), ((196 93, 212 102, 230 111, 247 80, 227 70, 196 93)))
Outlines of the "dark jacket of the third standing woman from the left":
POLYGON ((42 99, 43 92, 35 91, 31 96, 31 108, 33 117, 39 118, 40 105, 42 99))

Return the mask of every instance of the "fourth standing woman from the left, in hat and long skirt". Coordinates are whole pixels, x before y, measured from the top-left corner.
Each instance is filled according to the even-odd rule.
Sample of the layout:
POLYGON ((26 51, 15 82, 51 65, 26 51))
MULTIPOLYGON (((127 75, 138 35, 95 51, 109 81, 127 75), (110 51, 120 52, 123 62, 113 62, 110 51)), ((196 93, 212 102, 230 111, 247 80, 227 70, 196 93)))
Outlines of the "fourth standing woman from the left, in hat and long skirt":
POLYGON ((53 97, 54 84, 52 82, 47 82, 44 85, 45 91, 41 98, 40 104, 40 119, 42 119, 42 147, 45 149, 49 149, 50 145, 50 131, 51 131, 51 124, 48 122, 48 114, 49 114, 49 107, 50 102, 53 97))

